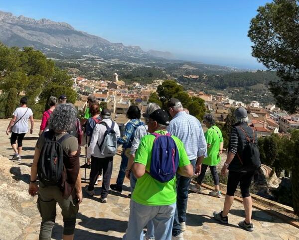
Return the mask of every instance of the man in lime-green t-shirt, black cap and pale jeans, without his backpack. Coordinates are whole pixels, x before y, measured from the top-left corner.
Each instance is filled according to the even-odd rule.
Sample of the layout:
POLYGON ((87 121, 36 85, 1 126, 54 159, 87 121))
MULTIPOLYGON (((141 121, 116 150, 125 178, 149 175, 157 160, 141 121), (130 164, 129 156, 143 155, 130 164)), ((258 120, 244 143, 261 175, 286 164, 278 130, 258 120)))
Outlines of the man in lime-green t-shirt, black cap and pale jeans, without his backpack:
MULTIPOLYGON (((165 135, 165 127, 169 124, 167 113, 161 109, 155 110, 147 118, 148 131, 165 135)), ((177 173, 192 177, 193 166, 190 164, 184 144, 175 136, 174 140, 179 164, 177 173)), ((146 135, 141 139, 137 149, 132 171, 137 178, 135 190, 130 202, 130 217, 128 229, 123 240, 143 240, 143 229, 152 220, 155 239, 171 240, 173 218, 176 208, 176 178, 168 182, 159 182, 149 175, 151 153, 155 136, 146 135)))

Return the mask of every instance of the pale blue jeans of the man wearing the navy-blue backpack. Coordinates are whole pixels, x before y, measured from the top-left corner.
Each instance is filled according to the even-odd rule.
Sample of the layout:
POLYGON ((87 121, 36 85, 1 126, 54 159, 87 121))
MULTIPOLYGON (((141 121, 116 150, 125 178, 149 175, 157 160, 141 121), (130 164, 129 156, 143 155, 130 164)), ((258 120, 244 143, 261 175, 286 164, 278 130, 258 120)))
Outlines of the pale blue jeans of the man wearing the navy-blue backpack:
POLYGON ((145 206, 131 200, 128 228, 123 240, 144 240, 143 229, 149 220, 154 226, 154 239, 171 240, 176 204, 145 206))

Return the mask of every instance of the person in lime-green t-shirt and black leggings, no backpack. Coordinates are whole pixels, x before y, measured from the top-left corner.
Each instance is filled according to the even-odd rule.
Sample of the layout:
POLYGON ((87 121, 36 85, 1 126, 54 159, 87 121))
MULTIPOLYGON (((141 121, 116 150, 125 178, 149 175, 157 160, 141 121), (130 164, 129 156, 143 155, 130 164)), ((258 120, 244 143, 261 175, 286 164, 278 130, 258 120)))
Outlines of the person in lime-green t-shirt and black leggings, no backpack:
POLYGON ((203 123, 208 127, 208 130, 204 134, 207 142, 208 157, 203 159, 201 172, 197 178, 197 184, 196 186, 190 187, 190 190, 200 193, 200 185, 204 179, 207 167, 209 167, 215 185, 214 191, 210 192, 209 195, 220 198, 221 192, 219 191, 219 175, 217 173, 217 165, 221 161, 223 148, 222 132, 219 127, 215 125, 215 119, 211 114, 206 114, 203 117, 203 123))

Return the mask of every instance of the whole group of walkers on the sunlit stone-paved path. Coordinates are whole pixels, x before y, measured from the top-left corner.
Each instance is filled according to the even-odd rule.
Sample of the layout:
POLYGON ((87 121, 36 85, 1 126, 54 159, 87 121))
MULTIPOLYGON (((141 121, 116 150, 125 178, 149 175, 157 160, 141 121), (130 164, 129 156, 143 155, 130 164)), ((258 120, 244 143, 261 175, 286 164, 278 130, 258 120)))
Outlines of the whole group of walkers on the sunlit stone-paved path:
MULTIPOLYGON (((66 101, 66 97, 61 96, 60 100, 66 101)), ((12 127, 13 159, 20 159, 21 140, 27 131, 28 119, 31 121, 31 133, 33 129, 32 111, 26 104, 22 98, 21 107, 13 113, 7 127, 7 134, 12 127), (23 123, 18 123, 22 119, 23 123), (24 125, 26 127, 22 129, 24 125)), ((209 195, 221 197, 216 166, 221 161, 223 137, 213 116, 204 116, 203 123, 208 127, 204 133, 200 121, 189 115, 177 99, 168 101, 167 112, 149 103, 143 114, 144 122, 140 109, 130 106, 128 122, 121 135, 108 109, 102 110, 92 95, 88 97, 88 104, 81 122, 88 146, 84 167, 91 167, 85 192, 93 196, 95 185, 102 180, 99 201, 105 204, 109 187, 121 193, 127 177, 131 183, 132 199, 128 228, 123 239, 183 240, 188 221, 188 191, 200 193, 208 167, 214 180, 214 190, 209 195), (118 145, 122 145, 120 170, 116 184, 110 185, 118 145), (190 185, 192 176, 197 178, 195 185, 190 185), (144 236, 145 228, 147 232, 144 236)), ((37 207, 42 219, 39 239, 51 239, 58 203, 64 222, 63 239, 69 240, 74 238, 76 215, 82 202, 80 136, 72 134, 78 122, 77 110, 72 104, 58 104, 55 97, 49 98, 48 105, 50 108, 43 114, 40 136, 35 146, 29 194, 38 194, 37 207)), ((257 137, 247 124, 244 108, 238 108, 235 116, 237 122, 232 127, 227 160, 221 170, 223 175, 229 170, 224 207, 213 215, 217 221, 228 224, 228 213, 240 183, 246 218, 239 226, 253 231, 249 187, 255 171, 260 167, 257 137)))

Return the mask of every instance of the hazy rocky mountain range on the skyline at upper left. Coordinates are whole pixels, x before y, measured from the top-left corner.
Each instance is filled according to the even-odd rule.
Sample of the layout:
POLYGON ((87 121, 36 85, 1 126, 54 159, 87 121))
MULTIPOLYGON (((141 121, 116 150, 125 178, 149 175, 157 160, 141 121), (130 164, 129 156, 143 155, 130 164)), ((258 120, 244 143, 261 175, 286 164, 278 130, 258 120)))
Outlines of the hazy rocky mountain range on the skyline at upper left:
POLYGON ((55 22, 45 18, 35 20, 3 11, 0 11, 0 42, 7 46, 33 46, 45 54, 56 54, 56 56, 95 54, 103 58, 126 58, 127 60, 128 58, 175 58, 170 52, 155 50, 146 52, 139 46, 112 43, 99 36, 78 31, 65 22, 55 22))

